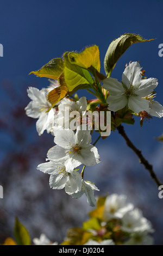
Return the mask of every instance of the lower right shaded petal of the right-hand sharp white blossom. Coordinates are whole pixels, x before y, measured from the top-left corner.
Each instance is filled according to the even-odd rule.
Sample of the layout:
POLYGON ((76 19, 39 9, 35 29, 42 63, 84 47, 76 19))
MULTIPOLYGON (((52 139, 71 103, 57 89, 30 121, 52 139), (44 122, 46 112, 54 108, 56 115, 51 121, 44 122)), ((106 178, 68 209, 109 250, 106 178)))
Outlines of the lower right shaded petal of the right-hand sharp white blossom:
POLYGON ((128 107, 135 113, 141 111, 149 112, 149 102, 146 99, 142 99, 141 96, 130 96, 128 100, 128 107))

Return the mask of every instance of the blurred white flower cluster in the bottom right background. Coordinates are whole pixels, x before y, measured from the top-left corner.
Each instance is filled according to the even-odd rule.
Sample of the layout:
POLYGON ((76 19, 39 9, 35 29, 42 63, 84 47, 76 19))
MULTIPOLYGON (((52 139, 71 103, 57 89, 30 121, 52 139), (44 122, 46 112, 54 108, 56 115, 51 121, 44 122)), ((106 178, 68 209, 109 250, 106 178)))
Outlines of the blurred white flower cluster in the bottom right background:
POLYGON ((140 209, 127 203, 126 199, 124 195, 108 196, 104 205, 104 221, 120 221, 121 230, 130 235, 130 238, 124 241, 124 245, 153 245, 153 237, 149 235, 154 232, 151 222, 143 217, 140 209))

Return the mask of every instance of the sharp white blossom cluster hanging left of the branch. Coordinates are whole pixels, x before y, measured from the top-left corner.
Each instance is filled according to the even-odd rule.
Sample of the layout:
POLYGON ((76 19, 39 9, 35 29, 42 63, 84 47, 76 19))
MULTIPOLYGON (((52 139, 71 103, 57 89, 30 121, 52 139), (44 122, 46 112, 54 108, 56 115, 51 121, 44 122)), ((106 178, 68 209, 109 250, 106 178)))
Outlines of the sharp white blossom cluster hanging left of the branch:
MULTIPOLYGON (((73 198, 79 198, 86 194, 87 202, 91 206, 96 205, 94 191, 98 188, 90 181, 83 179, 76 169, 81 164, 84 166, 94 166, 99 163, 98 150, 91 145, 91 134, 89 130, 82 130, 82 125, 77 125, 76 131, 69 129, 71 113, 76 111, 82 117, 86 111, 86 97, 81 97, 78 101, 63 99, 57 107, 51 108, 47 100, 47 93, 56 87, 52 84, 50 88, 38 90, 29 87, 28 96, 32 101, 25 108, 26 114, 32 118, 39 118, 36 122, 36 130, 39 135, 47 130, 54 136, 53 148, 49 149, 45 163, 39 164, 37 169, 43 173, 50 174, 49 185, 53 189, 61 190, 73 198), (49 111, 49 108, 50 111, 49 111), (68 119, 65 120, 68 112, 68 119)), ((73 114, 73 113, 72 113, 73 114)), ((79 119, 80 119, 79 117, 79 119)))

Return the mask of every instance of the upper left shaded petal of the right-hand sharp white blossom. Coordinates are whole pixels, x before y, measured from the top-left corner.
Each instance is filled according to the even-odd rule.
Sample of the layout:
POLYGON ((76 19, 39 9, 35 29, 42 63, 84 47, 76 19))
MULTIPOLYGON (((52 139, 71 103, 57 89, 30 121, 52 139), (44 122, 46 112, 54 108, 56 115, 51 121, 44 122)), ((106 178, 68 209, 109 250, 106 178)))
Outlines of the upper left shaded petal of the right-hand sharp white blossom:
POLYGON ((105 78, 103 80, 103 87, 109 91, 110 95, 117 95, 125 92, 122 83, 111 77, 105 78))

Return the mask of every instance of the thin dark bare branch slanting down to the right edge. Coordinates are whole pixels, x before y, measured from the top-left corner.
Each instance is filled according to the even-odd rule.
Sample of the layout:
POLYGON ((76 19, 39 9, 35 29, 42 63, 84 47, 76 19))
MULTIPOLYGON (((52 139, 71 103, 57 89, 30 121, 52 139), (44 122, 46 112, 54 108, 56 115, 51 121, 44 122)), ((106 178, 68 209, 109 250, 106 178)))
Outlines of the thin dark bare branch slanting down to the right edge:
POLYGON ((128 136, 126 135, 126 132, 124 131, 124 127, 122 125, 117 127, 118 132, 122 135, 122 137, 125 139, 127 145, 129 148, 131 148, 135 154, 139 157, 140 163, 143 164, 143 166, 148 170, 148 172, 150 173, 152 179, 155 181, 155 183, 158 186, 161 186, 161 182, 159 181, 159 179, 157 178, 156 174, 154 173, 153 170, 153 166, 151 163, 149 163, 145 157, 143 157, 141 150, 137 149, 134 144, 130 141, 130 139, 128 138, 128 136))

